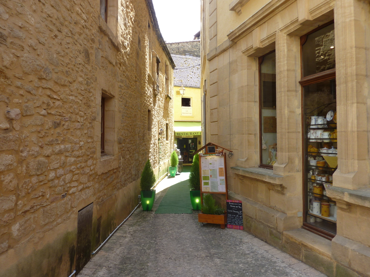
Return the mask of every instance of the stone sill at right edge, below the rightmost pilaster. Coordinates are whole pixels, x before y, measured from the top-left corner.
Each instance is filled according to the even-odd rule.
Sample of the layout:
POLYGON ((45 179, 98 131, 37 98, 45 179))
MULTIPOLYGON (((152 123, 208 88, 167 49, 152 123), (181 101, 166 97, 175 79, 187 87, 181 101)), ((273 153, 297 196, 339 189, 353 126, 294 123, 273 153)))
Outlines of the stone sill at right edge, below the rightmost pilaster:
POLYGON ((348 209, 350 204, 370 208, 370 188, 351 190, 346 188, 330 187, 327 188, 326 195, 335 199, 337 205, 341 205, 343 209, 348 209))

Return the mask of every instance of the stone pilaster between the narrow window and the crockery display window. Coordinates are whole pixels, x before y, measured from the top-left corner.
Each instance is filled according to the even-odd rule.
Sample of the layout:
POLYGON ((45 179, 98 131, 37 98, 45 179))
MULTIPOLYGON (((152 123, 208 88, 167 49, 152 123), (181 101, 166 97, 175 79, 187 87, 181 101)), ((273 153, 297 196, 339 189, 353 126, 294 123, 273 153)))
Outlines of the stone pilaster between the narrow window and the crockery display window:
POLYGON ((302 120, 299 37, 276 33, 277 163, 274 173, 286 175, 302 168, 302 120), (298 116, 297 116, 298 115, 298 116))

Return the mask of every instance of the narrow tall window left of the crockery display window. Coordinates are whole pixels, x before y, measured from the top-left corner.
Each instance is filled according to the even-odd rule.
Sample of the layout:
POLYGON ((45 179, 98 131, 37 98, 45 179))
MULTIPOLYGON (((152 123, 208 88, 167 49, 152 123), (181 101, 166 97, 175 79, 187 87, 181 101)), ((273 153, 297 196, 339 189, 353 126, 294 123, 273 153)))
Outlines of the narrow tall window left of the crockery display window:
POLYGON ((275 62, 275 51, 259 58, 260 166, 265 168, 277 160, 275 62))

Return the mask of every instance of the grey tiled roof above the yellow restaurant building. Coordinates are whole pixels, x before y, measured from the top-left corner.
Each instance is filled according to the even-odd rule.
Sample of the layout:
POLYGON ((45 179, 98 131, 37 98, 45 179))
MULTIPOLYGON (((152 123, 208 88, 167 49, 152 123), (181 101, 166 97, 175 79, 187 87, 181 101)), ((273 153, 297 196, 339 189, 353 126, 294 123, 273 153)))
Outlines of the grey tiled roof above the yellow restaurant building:
POLYGON ((201 87, 201 58, 172 55, 175 62, 174 86, 201 87), (182 81, 182 82, 181 82, 182 81))

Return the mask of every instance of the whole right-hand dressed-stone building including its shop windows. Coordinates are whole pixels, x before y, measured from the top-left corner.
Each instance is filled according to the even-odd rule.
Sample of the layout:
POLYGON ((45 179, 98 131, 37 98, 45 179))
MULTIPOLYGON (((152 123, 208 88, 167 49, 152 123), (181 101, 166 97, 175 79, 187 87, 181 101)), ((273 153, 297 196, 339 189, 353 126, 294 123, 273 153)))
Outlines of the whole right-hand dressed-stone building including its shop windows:
POLYGON ((244 228, 328 276, 370 276, 369 1, 201 3, 206 142, 233 150, 244 228))

